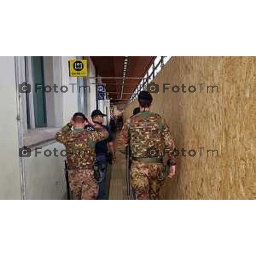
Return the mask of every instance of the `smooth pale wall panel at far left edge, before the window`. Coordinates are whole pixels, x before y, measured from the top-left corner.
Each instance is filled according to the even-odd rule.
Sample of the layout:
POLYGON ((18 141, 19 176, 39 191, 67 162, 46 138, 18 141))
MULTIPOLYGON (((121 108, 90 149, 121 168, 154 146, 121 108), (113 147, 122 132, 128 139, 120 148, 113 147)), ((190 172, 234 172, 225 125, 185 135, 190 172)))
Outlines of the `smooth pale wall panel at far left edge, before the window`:
POLYGON ((20 199, 15 58, 0 57, 0 199, 20 199))

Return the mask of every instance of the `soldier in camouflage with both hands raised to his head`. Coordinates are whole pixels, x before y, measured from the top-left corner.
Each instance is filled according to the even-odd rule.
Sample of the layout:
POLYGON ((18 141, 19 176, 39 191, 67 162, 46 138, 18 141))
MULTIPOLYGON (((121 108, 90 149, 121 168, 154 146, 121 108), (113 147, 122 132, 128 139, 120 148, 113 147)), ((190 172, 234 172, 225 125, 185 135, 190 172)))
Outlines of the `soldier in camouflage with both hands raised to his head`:
POLYGON ((55 134, 55 140, 64 144, 68 151, 68 177, 73 199, 96 198, 99 188, 93 176, 95 144, 108 137, 108 131, 100 125, 94 125, 95 131, 84 130, 86 120, 83 113, 75 113, 70 123, 55 134))

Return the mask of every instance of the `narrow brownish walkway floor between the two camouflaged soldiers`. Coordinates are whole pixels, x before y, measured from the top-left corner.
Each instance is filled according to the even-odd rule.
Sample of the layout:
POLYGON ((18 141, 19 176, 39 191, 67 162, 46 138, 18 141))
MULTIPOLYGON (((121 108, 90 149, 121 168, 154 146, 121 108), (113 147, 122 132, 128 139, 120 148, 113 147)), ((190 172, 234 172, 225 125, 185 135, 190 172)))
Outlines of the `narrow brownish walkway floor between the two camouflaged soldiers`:
POLYGON ((111 167, 109 199, 131 199, 127 195, 125 154, 122 154, 120 149, 124 149, 124 146, 120 143, 120 133, 117 133, 116 164, 111 167))

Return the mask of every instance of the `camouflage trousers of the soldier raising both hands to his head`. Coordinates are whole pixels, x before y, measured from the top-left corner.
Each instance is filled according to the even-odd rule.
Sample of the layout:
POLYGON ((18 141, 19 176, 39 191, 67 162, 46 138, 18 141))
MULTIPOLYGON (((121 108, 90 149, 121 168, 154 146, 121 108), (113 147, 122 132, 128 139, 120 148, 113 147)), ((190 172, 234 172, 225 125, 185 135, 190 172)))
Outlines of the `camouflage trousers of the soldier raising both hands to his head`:
POLYGON ((73 199, 96 199, 99 186, 93 177, 93 170, 69 170, 68 179, 73 199))

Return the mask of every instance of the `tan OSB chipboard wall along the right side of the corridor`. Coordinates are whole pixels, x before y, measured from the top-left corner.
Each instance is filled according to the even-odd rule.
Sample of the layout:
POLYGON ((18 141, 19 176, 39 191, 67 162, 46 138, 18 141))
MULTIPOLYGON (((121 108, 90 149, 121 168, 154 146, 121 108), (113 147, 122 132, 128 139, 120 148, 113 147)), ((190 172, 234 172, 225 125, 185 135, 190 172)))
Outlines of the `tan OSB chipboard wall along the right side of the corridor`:
MULTIPOLYGON (((178 157, 177 175, 166 180, 164 199, 256 198, 256 57, 174 57, 154 82, 151 110, 166 119, 178 157), (179 93, 163 93, 163 83, 178 85, 179 93), (202 93, 198 83, 204 83, 202 93), (195 85, 195 93, 181 92, 181 85, 195 85), (207 86, 215 87, 215 92, 207 86), (199 147, 204 147, 200 157, 199 147), (187 152, 196 150, 195 157, 187 152), (207 157, 207 149, 219 157, 207 157)), ((128 118, 137 101, 129 105, 128 118)))

